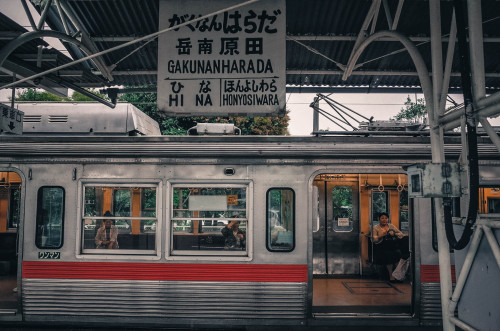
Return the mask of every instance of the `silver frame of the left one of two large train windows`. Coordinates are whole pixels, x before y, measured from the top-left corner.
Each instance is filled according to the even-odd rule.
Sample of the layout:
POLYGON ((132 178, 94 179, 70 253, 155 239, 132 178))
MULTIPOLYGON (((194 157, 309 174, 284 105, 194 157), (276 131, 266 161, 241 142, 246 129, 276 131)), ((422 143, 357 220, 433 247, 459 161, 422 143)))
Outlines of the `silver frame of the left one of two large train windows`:
MULTIPOLYGON (((114 194, 113 194, 114 195, 114 194)), ((141 194, 141 199, 143 195, 141 194)), ((123 179, 123 180, 109 180, 109 179, 81 179, 79 180, 78 189, 78 226, 77 226, 77 237, 76 242, 76 257, 81 259, 95 259, 95 258, 106 258, 109 259, 112 256, 113 259, 123 260, 123 259, 143 259, 143 260, 159 260, 162 254, 162 232, 163 232, 163 184, 161 180, 138 180, 138 179, 123 179), (123 188, 123 189, 137 189, 137 188, 152 188, 156 190, 156 229, 155 229, 155 248, 153 250, 140 250, 140 249, 118 249, 118 250, 105 250, 97 248, 84 248, 84 231, 83 231, 83 219, 89 218, 85 216, 85 188, 86 187, 112 187, 112 188, 123 188)), ((114 196, 112 197, 114 199, 114 196)), ((140 206, 142 207, 142 201, 140 206)), ((112 206, 113 207, 113 206, 112 206)), ((141 208, 140 207, 140 208, 141 208)), ((131 206, 132 210, 132 206, 131 206)), ((141 209, 142 211, 142 209, 141 209)), ((104 216, 91 216, 92 219, 151 219, 153 217, 142 217, 142 216, 117 216, 117 217, 104 217, 104 216)))

